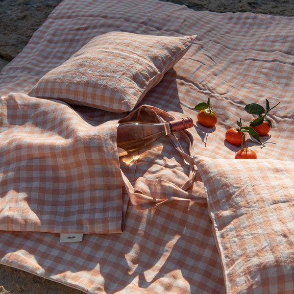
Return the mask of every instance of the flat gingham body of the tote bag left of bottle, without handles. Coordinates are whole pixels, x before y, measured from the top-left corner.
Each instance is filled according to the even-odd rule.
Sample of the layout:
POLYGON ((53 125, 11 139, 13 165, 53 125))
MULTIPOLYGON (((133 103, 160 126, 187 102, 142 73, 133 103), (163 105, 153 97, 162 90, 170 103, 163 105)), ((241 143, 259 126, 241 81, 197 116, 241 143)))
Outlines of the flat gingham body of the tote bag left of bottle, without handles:
POLYGON ((116 127, 91 125, 56 100, 2 96, 0 230, 121 232, 116 127))

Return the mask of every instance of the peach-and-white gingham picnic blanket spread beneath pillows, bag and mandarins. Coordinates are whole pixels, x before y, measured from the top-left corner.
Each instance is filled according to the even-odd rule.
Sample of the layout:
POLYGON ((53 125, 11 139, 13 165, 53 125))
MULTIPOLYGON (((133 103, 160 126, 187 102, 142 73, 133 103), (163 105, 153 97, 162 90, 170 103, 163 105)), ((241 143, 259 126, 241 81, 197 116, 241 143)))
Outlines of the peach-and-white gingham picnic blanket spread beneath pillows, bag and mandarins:
MULTIPOLYGON (((0 94, 27 94, 45 73, 99 34, 118 29, 150 35, 197 34, 189 51, 141 104, 175 118, 194 118, 189 129, 192 155, 221 159, 233 158, 239 149, 225 142, 224 134, 240 117, 251 119, 245 104, 265 103, 265 98, 272 106, 281 102, 269 114, 271 137, 263 139, 263 146, 247 137, 246 146, 259 158, 293 161, 293 22, 294 18, 261 14, 196 12, 157 0, 64 0, 2 70, 0 94), (218 113, 212 129, 196 122, 194 110, 208 96, 218 113)), ((74 109, 94 125, 123 116, 74 109)), ((188 145, 183 145, 186 150, 188 145)), ((144 150, 136 165, 120 161, 132 186, 140 185, 141 177, 154 180, 156 174, 167 174, 173 181, 177 173, 183 175, 184 184, 188 165, 181 166, 178 151, 166 138, 153 147, 158 150, 144 150)), ((54 233, 2 231, 0 262, 91 294, 226 293, 201 174, 196 172, 195 179, 193 201, 176 200, 140 211, 129 203, 121 234, 86 234, 83 242, 60 244, 54 233)), ((124 207, 128 199, 125 193, 124 207)))

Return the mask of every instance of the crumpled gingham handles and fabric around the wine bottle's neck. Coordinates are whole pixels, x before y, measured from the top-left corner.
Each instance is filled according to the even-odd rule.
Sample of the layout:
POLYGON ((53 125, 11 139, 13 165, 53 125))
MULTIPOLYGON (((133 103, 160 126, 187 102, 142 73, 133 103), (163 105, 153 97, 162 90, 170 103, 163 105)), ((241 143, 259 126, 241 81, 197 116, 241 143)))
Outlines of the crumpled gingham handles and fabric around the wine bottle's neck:
MULTIPOLYGON (((162 123, 174 118, 156 107, 142 105, 119 122, 162 123)), ((140 150, 140 155, 130 154, 121 160, 121 169, 130 201, 137 209, 147 209, 171 200, 203 199, 202 191, 194 189, 196 170, 191 156, 192 137, 186 131, 170 134, 140 150), (161 153, 174 153, 166 159, 161 153), (175 152, 174 152, 175 151, 175 152), (147 165, 151 156, 156 157, 147 165), (171 168, 172 166, 172 168, 171 168), (134 177, 135 171, 142 174, 134 177), (128 178, 129 176, 129 178, 128 178)))

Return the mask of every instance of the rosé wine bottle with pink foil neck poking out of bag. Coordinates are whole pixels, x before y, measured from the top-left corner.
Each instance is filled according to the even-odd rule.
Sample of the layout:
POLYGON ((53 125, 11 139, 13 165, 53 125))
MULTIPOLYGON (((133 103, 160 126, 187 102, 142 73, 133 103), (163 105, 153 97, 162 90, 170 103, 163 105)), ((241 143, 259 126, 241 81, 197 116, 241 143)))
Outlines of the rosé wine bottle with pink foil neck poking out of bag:
POLYGON ((181 131, 193 126, 190 117, 168 123, 120 123, 117 130, 117 146, 119 156, 138 151, 162 136, 181 131))

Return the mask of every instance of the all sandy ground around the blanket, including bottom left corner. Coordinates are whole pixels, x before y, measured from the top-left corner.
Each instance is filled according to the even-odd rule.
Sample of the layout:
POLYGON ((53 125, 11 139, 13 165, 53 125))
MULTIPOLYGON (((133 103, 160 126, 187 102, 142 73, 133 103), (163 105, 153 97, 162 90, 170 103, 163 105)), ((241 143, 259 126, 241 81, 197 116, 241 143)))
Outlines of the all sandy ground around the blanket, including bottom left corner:
MULTIPOLYGON (((195 10, 294 16, 293 0, 169 0, 195 10)), ((0 70, 25 47, 61 0, 0 0, 0 70)), ((42 277, 0 265, 0 294, 82 294, 42 277)))

